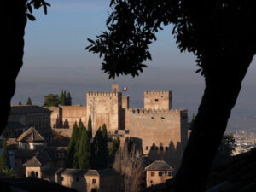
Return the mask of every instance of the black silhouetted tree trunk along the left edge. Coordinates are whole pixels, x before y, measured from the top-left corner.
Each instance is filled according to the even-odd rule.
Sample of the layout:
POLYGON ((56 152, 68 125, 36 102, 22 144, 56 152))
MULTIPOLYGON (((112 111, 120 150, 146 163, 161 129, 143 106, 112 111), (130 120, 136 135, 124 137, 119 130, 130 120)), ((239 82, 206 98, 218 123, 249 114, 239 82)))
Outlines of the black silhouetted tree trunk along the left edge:
POLYGON ((3 52, 2 52, 2 103, 3 114, 0 120, 0 134, 7 124, 10 111, 10 101, 15 94, 15 81, 22 66, 24 49, 24 32, 26 26, 26 1, 4 1, 3 8, 9 10, 8 15, 4 15, 2 22, 3 32, 3 52))

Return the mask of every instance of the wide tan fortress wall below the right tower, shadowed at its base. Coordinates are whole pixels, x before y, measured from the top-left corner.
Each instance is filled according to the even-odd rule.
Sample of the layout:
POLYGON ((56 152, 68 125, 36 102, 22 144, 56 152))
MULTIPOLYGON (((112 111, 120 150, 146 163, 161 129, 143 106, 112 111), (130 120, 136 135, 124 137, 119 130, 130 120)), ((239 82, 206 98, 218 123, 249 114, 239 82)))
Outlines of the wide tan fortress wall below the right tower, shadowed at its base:
POLYGON ((166 160, 177 170, 183 151, 183 113, 186 110, 129 109, 130 136, 141 140, 149 159, 166 160))

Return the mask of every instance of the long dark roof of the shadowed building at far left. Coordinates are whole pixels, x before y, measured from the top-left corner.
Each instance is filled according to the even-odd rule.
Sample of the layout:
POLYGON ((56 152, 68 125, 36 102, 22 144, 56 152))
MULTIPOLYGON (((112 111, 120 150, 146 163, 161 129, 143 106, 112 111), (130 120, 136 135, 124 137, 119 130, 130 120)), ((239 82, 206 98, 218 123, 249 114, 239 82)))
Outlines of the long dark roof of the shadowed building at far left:
POLYGON ((51 113, 47 108, 36 105, 13 105, 11 106, 10 115, 12 114, 29 114, 29 113, 51 113))

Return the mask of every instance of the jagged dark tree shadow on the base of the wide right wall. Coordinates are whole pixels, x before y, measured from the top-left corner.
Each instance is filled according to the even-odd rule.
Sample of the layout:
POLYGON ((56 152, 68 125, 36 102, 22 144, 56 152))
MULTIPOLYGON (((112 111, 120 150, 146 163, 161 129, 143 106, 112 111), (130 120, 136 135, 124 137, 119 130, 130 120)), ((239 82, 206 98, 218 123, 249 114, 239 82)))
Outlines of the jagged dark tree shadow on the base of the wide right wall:
POLYGON ((180 142, 176 143, 176 147, 172 140, 168 147, 163 146, 162 143, 160 143, 160 146, 156 146, 155 143, 153 143, 148 149, 148 158, 150 160, 165 160, 175 171, 177 170, 182 156, 182 146, 180 142))

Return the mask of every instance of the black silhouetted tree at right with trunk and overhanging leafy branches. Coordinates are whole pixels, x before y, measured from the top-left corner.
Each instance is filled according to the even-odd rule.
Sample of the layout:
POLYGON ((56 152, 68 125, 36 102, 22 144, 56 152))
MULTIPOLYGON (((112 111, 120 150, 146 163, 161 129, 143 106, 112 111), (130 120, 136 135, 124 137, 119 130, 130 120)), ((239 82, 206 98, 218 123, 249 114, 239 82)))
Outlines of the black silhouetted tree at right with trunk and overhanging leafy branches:
POLYGON ((227 0, 112 0, 108 31, 86 47, 103 55, 115 78, 138 75, 151 59, 148 46, 172 24, 178 48, 196 55, 205 90, 177 171, 174 191, 203 191, 241 82, 256 52, 256 2, 227 0), (212 120, 214 117, 214 120, 212 120))

